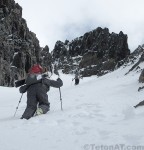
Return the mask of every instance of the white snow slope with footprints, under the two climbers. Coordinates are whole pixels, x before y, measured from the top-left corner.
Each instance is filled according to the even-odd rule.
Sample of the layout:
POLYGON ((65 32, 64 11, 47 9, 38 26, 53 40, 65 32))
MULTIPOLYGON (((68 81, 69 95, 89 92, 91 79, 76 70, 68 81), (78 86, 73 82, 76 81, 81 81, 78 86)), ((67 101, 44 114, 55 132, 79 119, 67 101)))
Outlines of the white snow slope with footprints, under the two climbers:
POLYGON ((51 111, 30 120, 19 119, 26 94, 13 117, 21 94, 17 88, 0 87, 0 150, 93 150, 115 144, 132 149, 142 145, 144 107, 133 108, 144 99, 143 91, 137 91, 142 84, 138 83, 140 73, 124 75, 129 69, 83 78, 78 86, 72 75, 61 73, 64 110, 60 109, 59 90, 51 88, 51 111))

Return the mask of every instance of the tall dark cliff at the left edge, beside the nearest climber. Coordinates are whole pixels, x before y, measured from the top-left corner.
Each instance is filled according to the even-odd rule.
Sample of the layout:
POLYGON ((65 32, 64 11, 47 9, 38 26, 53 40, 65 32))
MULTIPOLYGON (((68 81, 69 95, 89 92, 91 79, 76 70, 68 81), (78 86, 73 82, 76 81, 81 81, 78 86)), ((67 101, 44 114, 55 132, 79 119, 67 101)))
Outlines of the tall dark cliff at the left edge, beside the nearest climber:
POLYGON ((0 86, 13 86, 40 61, 36 35, 29 31, 22 8, 14 0, 0 1, 0 86))

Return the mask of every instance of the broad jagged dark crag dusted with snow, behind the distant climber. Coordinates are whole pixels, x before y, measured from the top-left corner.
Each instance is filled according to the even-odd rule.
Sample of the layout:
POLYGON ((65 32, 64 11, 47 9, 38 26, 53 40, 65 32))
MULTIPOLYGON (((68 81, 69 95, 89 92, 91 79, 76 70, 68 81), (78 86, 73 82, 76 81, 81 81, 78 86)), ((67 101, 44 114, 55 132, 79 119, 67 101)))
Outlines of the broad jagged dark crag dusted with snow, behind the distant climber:
POLYGON ((103 75, 121 66, 121 62, 130 54, 127 35, 109 33, 107 28, 100 28, 85 33, 84 36, 65 43, 58 41, 52 52, 64 73, 81 69, 83 76, 103 75))

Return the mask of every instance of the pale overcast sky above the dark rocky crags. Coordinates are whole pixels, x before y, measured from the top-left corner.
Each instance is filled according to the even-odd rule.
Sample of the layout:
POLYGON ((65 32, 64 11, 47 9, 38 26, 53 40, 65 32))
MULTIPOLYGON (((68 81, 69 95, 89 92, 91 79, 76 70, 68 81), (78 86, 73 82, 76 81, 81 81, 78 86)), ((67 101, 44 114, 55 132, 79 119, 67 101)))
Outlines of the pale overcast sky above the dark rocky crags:
POLYGON ((144 0, 15 0, 23 18, 50 51, 57 40, 69 41, 97 27, 128 35, 131 51, 144 44, 144 0))

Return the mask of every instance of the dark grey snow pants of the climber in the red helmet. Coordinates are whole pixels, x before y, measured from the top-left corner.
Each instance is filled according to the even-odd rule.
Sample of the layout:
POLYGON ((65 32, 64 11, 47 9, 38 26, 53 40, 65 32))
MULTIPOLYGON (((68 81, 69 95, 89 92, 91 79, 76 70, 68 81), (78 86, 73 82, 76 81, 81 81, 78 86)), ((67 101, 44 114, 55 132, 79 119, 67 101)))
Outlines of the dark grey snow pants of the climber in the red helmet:
POLYGON ((31 85, 27 90, 27 107, 22 118, 29 119, 36 112, 37 106, 47 113, 50 108, 48 102, 47 88, 42 83, 31 85))

